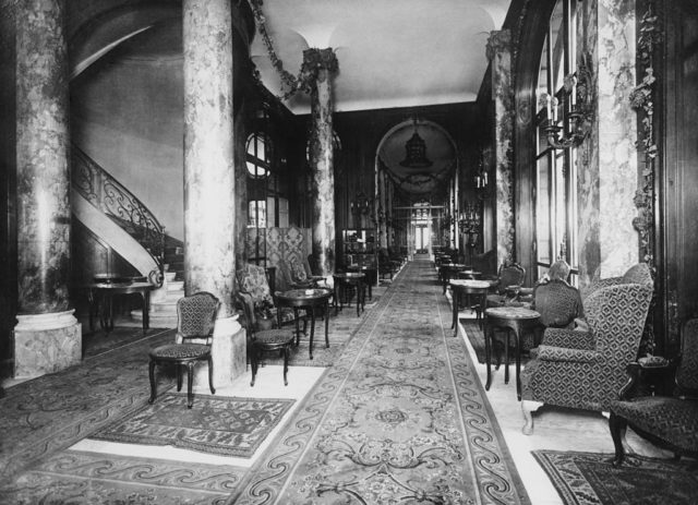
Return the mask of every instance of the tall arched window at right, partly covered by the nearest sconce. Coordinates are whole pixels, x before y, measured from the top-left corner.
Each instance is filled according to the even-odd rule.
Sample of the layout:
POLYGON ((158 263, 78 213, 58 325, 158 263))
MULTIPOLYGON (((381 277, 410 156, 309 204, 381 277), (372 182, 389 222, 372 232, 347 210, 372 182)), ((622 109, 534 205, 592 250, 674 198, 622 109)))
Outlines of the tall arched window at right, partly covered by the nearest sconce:
MULTIPOLYGON (((554 149, 545 127, 568 124, 575 93, 566 93, 566 75, 576 71, 577 0, 558 0, 547 27, 537 86, 535 251, 538 277, 557 258, 573 268, 577 282, 577 148, 554 149)), ((566 131, 566 130, 565 130, 566 131)))

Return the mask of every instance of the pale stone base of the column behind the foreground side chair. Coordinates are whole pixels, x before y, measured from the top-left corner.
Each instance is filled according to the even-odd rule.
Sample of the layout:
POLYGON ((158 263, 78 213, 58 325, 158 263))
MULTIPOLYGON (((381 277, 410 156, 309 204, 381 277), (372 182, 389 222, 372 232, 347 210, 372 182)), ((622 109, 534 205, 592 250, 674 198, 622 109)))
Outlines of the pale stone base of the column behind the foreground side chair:
MULTIPOLYGON (((233 381, 245 372, 248 365, 246 333, 238 315, 216 320, 210 353, 214 360, 214 387, 231 386, 233 381)), ((208 386, 208 366, 205 362, 196 365, 194 384, 208 386)))

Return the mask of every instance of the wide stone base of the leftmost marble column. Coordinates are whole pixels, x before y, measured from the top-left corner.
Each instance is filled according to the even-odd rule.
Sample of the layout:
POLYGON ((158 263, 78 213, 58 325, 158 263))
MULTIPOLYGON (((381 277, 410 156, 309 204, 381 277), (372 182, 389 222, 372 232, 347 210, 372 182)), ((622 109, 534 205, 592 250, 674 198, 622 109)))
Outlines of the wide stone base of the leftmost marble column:
POLYGON ((38 377, 81 362, 83 329, 73 312, 17 316, 14 378, 38 377))

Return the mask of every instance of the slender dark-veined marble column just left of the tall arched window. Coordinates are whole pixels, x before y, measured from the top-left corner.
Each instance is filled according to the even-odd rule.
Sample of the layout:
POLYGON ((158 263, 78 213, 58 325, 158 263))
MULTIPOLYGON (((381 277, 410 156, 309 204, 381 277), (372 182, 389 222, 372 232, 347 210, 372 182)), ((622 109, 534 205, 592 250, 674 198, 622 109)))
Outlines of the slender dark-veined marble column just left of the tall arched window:
POLYGON ((494 156, 496 184, 497 261, 515 258, 514 251, 514 88, 512 82, 512 36, 508 29, 491 32, 486 47, 492 64, 494 100, 494 156))

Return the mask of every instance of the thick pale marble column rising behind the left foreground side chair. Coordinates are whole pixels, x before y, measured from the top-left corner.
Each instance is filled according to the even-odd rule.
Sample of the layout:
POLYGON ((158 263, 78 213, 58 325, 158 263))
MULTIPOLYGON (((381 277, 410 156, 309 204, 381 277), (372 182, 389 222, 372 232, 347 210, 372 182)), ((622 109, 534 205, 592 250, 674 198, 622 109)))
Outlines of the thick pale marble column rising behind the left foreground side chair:
MULTIPOLYGON (((184 0, 184 286, 220 300, 214 385, 245 370, 244 330, 233 308, 236 171, 232 14, 227 0, 184 0)), ((205 370, 205 366, 198 369, 205 370)), ((203 376, 196 377, 197 382, 203 376)))

